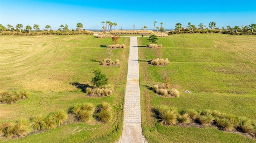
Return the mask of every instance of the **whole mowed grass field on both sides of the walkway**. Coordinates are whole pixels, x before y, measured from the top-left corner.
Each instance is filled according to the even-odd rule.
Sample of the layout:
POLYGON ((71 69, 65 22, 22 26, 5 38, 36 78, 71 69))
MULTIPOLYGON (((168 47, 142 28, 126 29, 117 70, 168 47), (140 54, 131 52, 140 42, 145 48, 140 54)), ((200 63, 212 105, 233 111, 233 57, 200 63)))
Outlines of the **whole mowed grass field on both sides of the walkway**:
MULTIPOLYGON (((141 35, 140 35, 141 36, 141 35)), ((161 49, 147 49, 148 37, 138 37, 142 129, 149 142, 256 142, 251 137, 228 133, 213 127, 164 126, 153 117, 151 109, 159 105, 184 110, 218 110, 236 116, 256 119, 256 37, 254 35, 180 34, 158 38, 161 49), (168 58, 166 67, 152 67, 147 61, 168 58), (150 88, 170 77, 180 98, 162 98, 150 88), (192 93, 184 93, 190 90, 192 93)), ((123 100, 126 87, 130 37, 120 37, 126 49, 113 50, 112 59, 120 65, 101 67, 106 46, 112 40, 93 35, 0 36, 0 89, 26 89, 32 96, 15 104, 0 104, 0 120, 29 118, 38 113, 49 114, 75 104, 90 102, 95 106, 107 101, 113 106, 114 119, 101 123, 74 122, 69 116, 64 125, 34 133, 22 139, 0 139, 10 143, 113 143, 122 133, 123 100), (81 89, 100 68, 115 92, 110 97, 89 97, 81 89), (53 93, 49 93, 54 90, 53 93)))

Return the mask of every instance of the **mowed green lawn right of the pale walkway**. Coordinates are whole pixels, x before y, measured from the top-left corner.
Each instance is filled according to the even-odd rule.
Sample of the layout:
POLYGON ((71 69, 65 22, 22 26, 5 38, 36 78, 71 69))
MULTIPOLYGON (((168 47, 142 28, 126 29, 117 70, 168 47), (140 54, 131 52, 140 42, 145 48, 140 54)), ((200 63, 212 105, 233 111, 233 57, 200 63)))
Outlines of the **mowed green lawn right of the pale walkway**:
POLYGON ((142 129, 150 142, 256 142, 237 133, 213 127, 164 126, 151 109, 159 105, 185 109, 218 110, 256 119, 256 36, 180 34, 158 38, 160 49, 147 49, 148 38, 138 38, 142 129), (152 67, 148 60, 168 58, 166 67, 152 67), (170 77, 180 98, 162 98, 150 88, 170 77), (184 93, 190 90, 192 93, 184 93))

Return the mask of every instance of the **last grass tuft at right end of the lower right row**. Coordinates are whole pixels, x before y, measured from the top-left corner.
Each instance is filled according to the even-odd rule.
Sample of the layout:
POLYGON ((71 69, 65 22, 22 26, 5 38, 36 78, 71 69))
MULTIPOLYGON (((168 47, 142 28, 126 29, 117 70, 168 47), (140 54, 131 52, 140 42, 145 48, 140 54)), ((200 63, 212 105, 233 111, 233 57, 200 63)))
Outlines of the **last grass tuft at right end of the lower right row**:
POLYGON ((249 133, 251 135, 255 135, 255 129, 250 119, 246 117, 241 117, 239 118, 239 123, 240 123, 239 129, 241 129, 243 133, 249 133))

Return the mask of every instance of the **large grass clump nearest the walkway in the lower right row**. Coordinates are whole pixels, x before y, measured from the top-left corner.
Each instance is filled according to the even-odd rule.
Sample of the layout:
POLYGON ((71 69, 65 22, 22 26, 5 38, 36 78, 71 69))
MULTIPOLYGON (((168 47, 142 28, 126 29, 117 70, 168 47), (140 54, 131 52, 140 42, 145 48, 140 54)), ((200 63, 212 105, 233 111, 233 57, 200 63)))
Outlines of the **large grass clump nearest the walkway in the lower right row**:
POLYGON ((176 125, 178 123, 177 110, 175 107, 159 106, 154 109, 156 118, 163 125, 176 125))

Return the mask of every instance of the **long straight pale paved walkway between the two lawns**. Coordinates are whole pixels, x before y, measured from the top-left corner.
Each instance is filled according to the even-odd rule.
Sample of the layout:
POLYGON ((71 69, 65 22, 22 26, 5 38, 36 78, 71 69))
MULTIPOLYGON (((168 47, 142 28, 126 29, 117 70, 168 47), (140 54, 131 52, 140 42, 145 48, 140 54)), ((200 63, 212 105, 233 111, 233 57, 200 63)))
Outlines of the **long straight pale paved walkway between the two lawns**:
POLYGON ((121 143, 144 143, 141 127, 137 37, 130 37, 127 84, 124 97, 124 126, 121 143))

